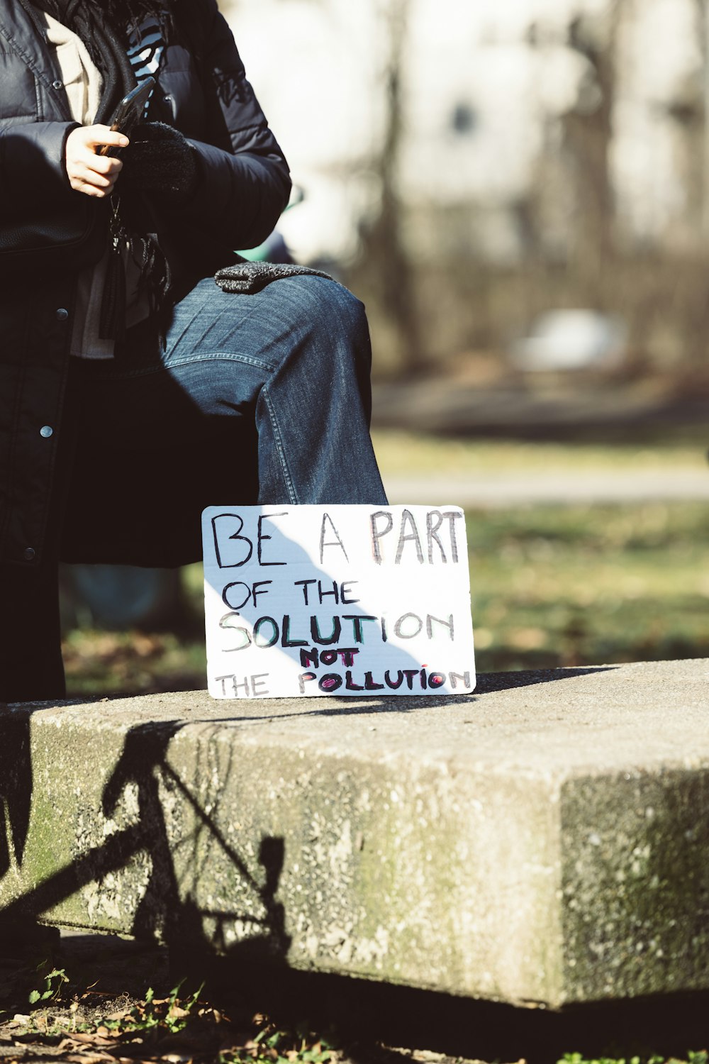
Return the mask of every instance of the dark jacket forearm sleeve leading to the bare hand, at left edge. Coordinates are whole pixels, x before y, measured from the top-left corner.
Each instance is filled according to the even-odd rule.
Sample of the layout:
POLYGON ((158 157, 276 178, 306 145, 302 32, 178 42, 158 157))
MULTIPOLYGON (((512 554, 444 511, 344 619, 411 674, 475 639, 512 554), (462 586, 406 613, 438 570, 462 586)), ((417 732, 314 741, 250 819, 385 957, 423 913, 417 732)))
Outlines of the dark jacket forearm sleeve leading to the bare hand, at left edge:
POLYGON ((77 122, 18 122, 0 132, 2 212, 71 196, 64 155, 77 122))

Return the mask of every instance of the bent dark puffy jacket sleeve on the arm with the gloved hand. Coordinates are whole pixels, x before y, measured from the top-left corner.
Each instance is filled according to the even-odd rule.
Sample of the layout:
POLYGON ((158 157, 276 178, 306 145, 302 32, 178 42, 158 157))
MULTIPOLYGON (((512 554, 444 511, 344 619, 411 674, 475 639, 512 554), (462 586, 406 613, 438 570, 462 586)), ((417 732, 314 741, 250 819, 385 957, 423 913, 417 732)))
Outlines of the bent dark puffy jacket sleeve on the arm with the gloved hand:
POLYGON ((200 67, 207 129, 204 140, 190 138, 201 180, 180 211, 220 242, 250 248, 273 230, 288 202, 290 176, 216 0, 208 0, 206 7, 200 67))

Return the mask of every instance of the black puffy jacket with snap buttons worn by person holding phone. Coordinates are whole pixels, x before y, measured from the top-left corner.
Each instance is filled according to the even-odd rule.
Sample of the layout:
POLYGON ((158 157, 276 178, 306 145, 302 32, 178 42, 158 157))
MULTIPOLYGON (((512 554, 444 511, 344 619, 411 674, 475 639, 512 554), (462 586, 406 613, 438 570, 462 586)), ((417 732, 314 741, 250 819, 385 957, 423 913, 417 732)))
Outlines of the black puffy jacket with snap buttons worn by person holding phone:
MULTIPOLYGON (((216 0, 200 9, 199 63, 168 41, 149 119, 176 127, 197 148, 201 182, 180 207, 156 204, 156 228, 183 292, 260 243, 290 190, 288 167, 246 80, 216 0)), ((0 225, 28 197, 56 204, 68 185, 64 145, 75 127, 54 50, 17 0, 0 0, 0 225)), ((0 288, 0 562, 43 554, 68 372, 75 277, 56 270, 0 288)))

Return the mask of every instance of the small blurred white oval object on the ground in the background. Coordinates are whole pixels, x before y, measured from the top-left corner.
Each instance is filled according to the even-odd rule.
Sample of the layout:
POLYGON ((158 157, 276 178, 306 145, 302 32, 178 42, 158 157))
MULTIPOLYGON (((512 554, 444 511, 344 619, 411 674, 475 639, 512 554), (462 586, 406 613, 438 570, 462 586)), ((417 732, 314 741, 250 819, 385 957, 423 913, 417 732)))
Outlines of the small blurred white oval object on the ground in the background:
POLYGON ((625 358, 627 329, 597 311, 548 311, 511 346, 518 369, 615 369, 625 358))

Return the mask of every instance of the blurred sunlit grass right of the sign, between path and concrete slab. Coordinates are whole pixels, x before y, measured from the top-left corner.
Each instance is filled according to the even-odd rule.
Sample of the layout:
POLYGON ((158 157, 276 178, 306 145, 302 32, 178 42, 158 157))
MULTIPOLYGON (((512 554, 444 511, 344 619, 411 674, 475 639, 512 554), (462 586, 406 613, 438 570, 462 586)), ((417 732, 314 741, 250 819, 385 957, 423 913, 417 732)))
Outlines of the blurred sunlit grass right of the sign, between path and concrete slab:
POLYGON ((703 503, 469 513, 480 671, 709 656, 703 503))

